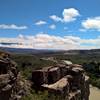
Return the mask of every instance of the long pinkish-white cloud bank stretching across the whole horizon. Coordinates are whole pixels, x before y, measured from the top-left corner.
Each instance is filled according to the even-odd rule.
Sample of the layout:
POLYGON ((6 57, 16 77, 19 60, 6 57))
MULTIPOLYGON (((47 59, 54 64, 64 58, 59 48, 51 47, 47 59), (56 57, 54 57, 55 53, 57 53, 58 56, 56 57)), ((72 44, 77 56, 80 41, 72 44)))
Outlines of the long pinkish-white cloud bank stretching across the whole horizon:
POLYGON ((13 47, 13 48, 59 49, 59 50, 96 49, 100 48, 100 37, 97 37, 95 39, 82 39, 76 36, 61 37, 43 33, 39 33, 33 36, 29 35, 24 36, 20 34, 15 38, 0 38, 0 46, 13 47))

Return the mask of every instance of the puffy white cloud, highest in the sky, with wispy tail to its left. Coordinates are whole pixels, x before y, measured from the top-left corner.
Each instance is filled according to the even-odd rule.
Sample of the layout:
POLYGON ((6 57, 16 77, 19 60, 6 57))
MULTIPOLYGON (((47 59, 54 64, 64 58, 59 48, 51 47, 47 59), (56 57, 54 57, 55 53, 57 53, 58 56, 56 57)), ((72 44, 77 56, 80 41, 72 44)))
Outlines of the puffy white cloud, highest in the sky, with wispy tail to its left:
POLYGON ((68 9, 64 9, 62 12, 62 17, 60 18, 56 15, 51 15, 50 19, 56 21, 56 22, 64 22, 64 23, 68 23, 68 22, 72 22, 76 20, 76 17, 80 16, 79 11, 75 8, 68 8, 68 9))

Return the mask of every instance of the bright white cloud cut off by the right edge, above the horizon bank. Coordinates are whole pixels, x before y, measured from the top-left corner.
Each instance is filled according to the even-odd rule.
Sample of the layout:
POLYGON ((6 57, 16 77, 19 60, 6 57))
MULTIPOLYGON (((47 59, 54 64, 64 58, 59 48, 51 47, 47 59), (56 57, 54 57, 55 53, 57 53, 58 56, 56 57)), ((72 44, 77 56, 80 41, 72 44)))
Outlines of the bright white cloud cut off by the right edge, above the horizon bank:
POLYGON ((82 27, 86 30, 97 30, 100 31, 100 16, 94 17, 94 18, 88 18, 84 21, 82 21, 82 27))

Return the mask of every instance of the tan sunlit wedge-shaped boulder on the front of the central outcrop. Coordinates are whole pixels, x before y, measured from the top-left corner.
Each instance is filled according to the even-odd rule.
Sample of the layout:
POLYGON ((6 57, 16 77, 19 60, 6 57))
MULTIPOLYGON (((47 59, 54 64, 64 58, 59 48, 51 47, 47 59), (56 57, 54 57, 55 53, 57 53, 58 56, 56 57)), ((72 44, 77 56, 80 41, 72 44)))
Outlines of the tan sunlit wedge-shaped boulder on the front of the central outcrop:
POLYGON ((43 88, 47 89, 50 94, 58 94, 65 97, 69 93, 69 83, 67 78, 62 78, 53 84, 43 84, 43 88))

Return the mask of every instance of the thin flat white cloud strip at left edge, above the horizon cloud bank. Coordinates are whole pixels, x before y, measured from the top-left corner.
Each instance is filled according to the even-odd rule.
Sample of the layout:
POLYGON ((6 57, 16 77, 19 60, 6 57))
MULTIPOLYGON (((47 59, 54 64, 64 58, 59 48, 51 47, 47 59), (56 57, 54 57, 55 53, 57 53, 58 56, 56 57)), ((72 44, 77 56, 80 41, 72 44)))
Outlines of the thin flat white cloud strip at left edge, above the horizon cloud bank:
POLYGON ((14 29, 14 30, 23 30, 27 29, 27 26, 17 26, 15 24, 7 25, 7 24, 1 24, 0 29, 14 29))

